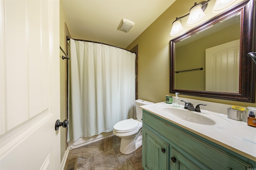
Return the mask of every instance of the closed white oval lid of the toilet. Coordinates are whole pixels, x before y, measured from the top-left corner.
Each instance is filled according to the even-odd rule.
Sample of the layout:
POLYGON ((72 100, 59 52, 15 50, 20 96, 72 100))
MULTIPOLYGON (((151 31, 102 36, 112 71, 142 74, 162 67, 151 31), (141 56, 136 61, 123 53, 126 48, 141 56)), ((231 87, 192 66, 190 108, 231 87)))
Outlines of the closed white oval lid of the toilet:
POLYGON ((116 132, 126 133, 135 130, 139 126, 139 123, 134 119, 122 120, 114 125, 116 132))

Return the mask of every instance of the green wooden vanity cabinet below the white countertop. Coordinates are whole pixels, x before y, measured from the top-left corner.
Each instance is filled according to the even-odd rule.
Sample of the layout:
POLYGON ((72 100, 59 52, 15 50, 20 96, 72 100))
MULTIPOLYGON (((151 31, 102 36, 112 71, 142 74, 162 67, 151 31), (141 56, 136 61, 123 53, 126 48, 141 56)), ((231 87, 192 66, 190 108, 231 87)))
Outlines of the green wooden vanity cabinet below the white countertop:
POLYGON ((256 162, 143 110, 145 170, 248 170, 256 162))

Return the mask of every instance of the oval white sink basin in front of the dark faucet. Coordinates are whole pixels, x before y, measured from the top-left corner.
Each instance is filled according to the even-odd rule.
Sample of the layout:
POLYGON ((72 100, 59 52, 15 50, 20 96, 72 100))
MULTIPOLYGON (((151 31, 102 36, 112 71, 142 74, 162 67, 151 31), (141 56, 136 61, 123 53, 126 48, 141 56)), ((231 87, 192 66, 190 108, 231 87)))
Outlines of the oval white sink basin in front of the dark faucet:
POLYGON ((193 123, 198 123, 201 125, 215 125, 215 121, 204 116, 204 113, 198 113, 195 111, 190 111, 183 108, 176 108, 170 106, 160 106, 158 109, 161 109, 163 112, 170 114, 179 119, 190 121, 193 123))

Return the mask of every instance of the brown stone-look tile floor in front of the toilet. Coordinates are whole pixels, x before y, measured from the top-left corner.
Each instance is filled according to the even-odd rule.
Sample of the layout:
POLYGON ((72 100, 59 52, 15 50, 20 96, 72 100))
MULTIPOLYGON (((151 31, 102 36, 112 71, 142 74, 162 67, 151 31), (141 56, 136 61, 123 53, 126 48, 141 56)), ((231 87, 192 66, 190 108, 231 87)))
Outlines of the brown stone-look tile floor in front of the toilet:
POLYGON ((68 159, 78 156, 77 170, 144 170, 142 147, 131 154, 122 154, 120 141, 120 138, 112 136, 72 149, 68 159))

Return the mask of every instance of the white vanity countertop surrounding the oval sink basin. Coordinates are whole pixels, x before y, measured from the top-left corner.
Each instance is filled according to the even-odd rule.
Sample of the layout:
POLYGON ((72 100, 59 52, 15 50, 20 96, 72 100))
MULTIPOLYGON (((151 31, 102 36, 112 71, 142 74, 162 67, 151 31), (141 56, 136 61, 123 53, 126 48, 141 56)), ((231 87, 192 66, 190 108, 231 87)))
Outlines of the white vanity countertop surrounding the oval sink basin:
MULTIPOLYGON (((204 114, 204 116, 212 120, 215 118, 215 125, 202 125, 182 120, 162 111, 159 109, 161 106, 172 107, 172 104, 160 102, 140 107, 218 145, 256 161, 256 127, 250 127, 244 121, 229 119, 226 114, 202 109, 207 109, 207 106, 202 107, 202 113, 199 114, 204 114)), ((180 105, 180 109, 183 108, 184 106, 180 105)))

